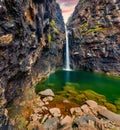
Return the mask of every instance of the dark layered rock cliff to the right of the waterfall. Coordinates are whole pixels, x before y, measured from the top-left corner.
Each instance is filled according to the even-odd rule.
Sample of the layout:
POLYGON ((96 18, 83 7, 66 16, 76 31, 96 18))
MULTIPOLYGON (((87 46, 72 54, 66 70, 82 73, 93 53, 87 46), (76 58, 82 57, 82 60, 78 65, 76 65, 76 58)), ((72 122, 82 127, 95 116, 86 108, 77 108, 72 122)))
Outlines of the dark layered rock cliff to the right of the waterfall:
POLYGON ((119 0, 80 0, 68 24, 73 68, 120 74, 119 0))

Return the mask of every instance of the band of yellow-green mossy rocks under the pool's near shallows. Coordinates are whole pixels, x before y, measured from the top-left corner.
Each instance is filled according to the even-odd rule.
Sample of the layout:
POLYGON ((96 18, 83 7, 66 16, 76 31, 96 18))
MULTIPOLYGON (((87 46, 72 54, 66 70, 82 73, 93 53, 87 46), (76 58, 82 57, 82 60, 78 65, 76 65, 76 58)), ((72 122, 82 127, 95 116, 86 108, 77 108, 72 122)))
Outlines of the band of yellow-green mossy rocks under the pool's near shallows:
POLYGON ((57 95, 57 100, 58 99, 62 99, 62 100, 67 99, 67 100, 69 100, 71 102, 75 102, 79 105, 82 105, 83 103, 85 103, 86 100, 94 100, 97 103, 99 103, 100 105, 106 106, 109 110, 111 110, 113 112, 117 112, 116 106, 109 103, 106 100, 105 96, 98 94, 92 90, 76 91, 73 87, 71 87, 71 84, 70 84, 70 86, 65 86, 64 90, 56 93, 56 95, 57 95))

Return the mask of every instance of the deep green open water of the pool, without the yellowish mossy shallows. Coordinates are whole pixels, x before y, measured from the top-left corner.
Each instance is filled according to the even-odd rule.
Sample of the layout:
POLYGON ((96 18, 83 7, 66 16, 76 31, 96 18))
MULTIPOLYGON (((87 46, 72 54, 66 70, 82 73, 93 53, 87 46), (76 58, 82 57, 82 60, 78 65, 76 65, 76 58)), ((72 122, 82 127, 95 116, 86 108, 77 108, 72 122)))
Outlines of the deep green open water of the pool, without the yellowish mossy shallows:
POLYGON ((38 84, 36 91, 50 88, 56 93, 65 86, 71 86, 76 91, 92 90, 104 95, 111 103, 120 99, 120 79, 85 71, 56 71, 38 84))

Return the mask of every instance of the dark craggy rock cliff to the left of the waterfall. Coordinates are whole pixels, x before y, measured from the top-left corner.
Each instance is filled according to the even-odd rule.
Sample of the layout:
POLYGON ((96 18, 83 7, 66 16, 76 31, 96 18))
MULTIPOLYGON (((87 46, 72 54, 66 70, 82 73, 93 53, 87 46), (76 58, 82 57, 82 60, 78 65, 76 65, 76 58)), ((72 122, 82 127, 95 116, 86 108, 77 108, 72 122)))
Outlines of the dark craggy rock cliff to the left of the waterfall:
POLYGON ((55 0, 0 0, 0 129, 6 102, 62 65, 63 34, 55 0))

